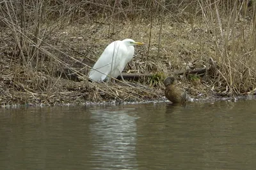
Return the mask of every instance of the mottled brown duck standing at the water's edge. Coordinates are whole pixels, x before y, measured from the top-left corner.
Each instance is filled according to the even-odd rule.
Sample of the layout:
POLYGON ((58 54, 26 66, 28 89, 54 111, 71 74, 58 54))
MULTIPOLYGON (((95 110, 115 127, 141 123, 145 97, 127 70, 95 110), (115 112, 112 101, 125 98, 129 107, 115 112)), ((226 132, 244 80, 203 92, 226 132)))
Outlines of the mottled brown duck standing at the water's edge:
POLYGON ((167 77, 164 80, 164 94, 165 97, 168 98, 173 103, 184 103, 188 100, 189 96, 186 91, 180 89, 179 87, 175 86, 174 84, 175 78, 174 77, 167 77))

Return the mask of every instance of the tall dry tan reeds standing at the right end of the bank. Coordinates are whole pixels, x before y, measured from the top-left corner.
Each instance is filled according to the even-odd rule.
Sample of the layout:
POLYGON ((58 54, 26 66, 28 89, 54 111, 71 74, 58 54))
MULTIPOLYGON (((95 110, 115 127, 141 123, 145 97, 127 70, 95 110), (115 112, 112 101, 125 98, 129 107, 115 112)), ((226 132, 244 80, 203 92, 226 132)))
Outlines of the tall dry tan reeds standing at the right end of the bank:
POLYGON ((220 65, 215 86, 228 95, 255 93, 255 2, 232 1, 228 7, 204 3, 203 19, 214 33, 214 58, 220 65))

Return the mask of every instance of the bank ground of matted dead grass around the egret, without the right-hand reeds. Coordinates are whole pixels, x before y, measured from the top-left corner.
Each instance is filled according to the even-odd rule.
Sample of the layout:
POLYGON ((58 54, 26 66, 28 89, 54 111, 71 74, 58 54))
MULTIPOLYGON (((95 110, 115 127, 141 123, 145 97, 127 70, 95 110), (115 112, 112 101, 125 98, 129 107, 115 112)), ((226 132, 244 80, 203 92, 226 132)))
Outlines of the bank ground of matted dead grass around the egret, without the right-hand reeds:
MULTIPOLYGON (((65 27, 54 23, 42 25, 48 34, 41 35, 44 40, 31 56, 28 49, 20 51, 17 47, 17 40, 13 40, 16 32, 11 27, 3 27, 0 105, 165 101, 163 80, 168 75, 175 75, 177 86, 186 89, 195 100, 255 94, 255 89, 240 86, 241 91, 236 86, 234 93, 234 87, 223 75, 220 56, 216 55, 216 38, 212 38, 216 35, 200 22, 170 24, 166 17, 161 26, 161 44, 159 20, 154 20, 152 26, 142 20, 116 22, 112 28, 109 32, 108 24, 93 20, 65 27), (113 40, 124 38, 147 43, 136 47, 135 56, 124 73, 150 76, 141 76, 136 81, 129 79, 132 85, 88 81, 88 70, 104 48, 113 40), (193 73, 196 69, 207 70, 193 73)), ((24 38, 29 42, 32 37, 24 38)))

